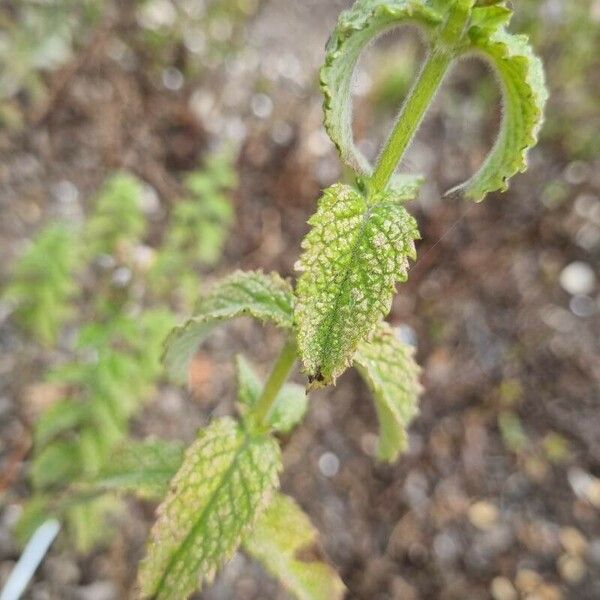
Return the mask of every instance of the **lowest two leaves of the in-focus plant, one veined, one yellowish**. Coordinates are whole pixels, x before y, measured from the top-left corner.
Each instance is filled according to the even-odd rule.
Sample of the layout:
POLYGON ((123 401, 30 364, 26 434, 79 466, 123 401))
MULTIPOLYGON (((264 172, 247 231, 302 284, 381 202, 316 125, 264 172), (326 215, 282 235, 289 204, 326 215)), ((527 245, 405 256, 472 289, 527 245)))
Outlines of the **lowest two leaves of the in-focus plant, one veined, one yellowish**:
POLYGON ((340 599, 344 586, 333 570, 299 557, 317 532, 293 500, 276 494, 280 470, 268 434, 228 417, 201 431, 159 508, 139 575, 142 596, 186 598, 243 544, 300 600, 340 599))

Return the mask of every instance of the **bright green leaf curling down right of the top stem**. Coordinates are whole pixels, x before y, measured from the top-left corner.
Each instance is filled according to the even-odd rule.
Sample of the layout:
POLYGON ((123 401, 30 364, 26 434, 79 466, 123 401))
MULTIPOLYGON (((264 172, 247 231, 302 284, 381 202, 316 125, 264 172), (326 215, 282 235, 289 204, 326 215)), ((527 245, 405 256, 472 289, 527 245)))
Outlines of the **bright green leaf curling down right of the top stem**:
POLYGON ((548 99, 542 61, 526 36, 506 32, 503 25, 509 17, 505 6, 475 8, 468 31, 466 52, 483 56, 498 74, 504 108, 500 132, 487 159, 469 181, 450 190, 463 190, 476 201, 490 192, 506 191, 508 180, 527 169, 527 152, 537 143, 548 99))

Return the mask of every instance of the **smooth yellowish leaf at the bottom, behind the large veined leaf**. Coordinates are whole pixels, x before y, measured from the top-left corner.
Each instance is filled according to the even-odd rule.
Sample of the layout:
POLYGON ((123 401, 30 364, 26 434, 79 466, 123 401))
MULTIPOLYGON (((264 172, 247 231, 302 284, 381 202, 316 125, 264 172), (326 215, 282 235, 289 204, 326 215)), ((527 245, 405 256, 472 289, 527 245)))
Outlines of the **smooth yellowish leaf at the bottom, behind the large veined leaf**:
POLYGON ((277 494, 262 514, 244 549, 298 600, 341 600, 345 587, 324 562, 304 558, 314 554, 318 533, 302 509, 277 494))

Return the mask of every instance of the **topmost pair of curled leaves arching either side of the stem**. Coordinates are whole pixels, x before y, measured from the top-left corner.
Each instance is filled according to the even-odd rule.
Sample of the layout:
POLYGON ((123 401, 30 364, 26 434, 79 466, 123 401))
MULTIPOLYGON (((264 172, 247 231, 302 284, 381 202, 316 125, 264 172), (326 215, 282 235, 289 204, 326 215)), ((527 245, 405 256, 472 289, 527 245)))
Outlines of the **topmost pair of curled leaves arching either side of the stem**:
POLYGON ((525 170, 548 95, 542 63, 526 37, 506 31, 512 16, 506 2, 472 6, 469 0, 359 0, 340 15, 321 69, 325 127, 342 160, 358 173, 370 175, 372 167, 352 139, 353 73, 372 40, 402 25, 422 29, 431 52, 450 52, 455 59, 483 58, 502 87, 504 111, 496 143, 479 171, 455 190, 479 201, 490 192, 506 190, 508 179, 525 170), (469 11, 468 19, 458 40, 448 46, 443 34, 455 9, 469 11))

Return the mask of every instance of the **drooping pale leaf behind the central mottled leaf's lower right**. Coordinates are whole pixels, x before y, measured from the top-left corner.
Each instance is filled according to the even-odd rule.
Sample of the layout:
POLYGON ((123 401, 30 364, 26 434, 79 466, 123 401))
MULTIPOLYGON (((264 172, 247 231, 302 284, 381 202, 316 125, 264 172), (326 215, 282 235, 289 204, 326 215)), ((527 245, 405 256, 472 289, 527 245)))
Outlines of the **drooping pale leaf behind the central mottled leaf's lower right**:
POLYGON ((362 342, 354 366, 371 389, 379 419, 381 460, 393 462, 406 448, 406 428, 415 417, 421 393, 414 349, 401 342, 387 323, 381 323, 369 342, 362 342))

